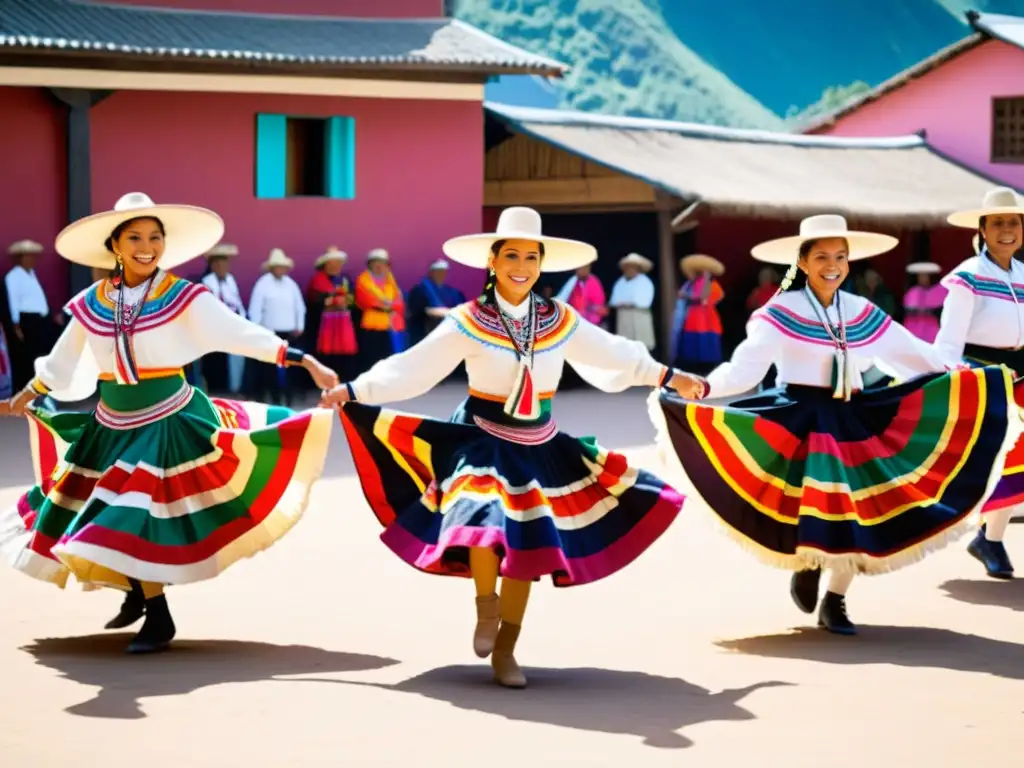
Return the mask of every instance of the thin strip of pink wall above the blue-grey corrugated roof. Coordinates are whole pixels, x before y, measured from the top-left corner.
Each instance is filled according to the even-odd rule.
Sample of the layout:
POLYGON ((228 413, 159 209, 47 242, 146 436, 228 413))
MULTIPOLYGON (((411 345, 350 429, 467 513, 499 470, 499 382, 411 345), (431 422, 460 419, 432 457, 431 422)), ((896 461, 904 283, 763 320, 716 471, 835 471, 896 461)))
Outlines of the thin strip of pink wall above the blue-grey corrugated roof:
POLYGON ((182 10, 311 14, 370 18, 435 18, 443 0, 94 0, 104 4, 145 5, 182 10))

